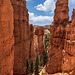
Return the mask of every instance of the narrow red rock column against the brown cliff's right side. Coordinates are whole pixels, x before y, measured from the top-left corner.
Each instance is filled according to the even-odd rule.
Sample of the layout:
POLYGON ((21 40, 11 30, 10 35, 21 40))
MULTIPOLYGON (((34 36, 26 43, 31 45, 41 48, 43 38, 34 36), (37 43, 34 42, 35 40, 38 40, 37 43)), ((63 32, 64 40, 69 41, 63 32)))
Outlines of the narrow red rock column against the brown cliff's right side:
POLYGON ((32 24, 30 24, 30 32, 29 32, 29 41, 30 41, 30 49, 29 49, 29 59, 31 61, 34 61, 35 60, 35 51, 34 51, 34 27, 32 24))

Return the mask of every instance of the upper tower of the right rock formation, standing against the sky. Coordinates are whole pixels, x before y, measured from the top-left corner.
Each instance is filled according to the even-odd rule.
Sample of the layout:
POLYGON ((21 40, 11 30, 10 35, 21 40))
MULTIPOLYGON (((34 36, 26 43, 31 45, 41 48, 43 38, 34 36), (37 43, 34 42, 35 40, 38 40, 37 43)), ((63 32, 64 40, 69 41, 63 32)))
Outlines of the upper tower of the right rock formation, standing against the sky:
POLYGON ((63 25, 65 26, 66 23, 69 20, 68 15, 68 0, 57 0, 56 2, 56 9, 55 9, 55 15, 54 15, 54 24, 56 26, 63 25))

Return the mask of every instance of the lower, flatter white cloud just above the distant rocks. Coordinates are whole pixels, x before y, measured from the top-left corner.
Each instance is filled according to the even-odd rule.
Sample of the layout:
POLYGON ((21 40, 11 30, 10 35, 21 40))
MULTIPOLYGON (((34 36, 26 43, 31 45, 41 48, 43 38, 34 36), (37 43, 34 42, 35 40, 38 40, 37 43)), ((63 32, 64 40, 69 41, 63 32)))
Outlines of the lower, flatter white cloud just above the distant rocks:
POLYGON ((45 25, 53 21, 52 16, 36 16, 34 13, 29 13, 30 24, 45 25))

